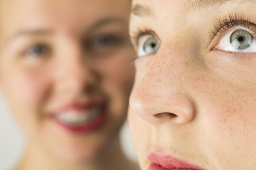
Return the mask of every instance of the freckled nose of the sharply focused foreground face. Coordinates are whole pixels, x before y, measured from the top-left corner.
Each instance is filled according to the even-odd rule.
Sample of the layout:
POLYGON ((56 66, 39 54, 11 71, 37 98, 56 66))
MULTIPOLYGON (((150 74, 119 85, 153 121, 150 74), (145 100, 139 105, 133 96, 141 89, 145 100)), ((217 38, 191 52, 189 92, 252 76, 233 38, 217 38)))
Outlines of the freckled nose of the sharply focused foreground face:
POLYGON ((163 122, 190 123, 196 109, 186 91, 184 63, 170 61, 170 56, 155 56, 145 74, 136 77, 136 81, 141 81, 135 84, 130 97, 131 114, 155 126, 163 122))

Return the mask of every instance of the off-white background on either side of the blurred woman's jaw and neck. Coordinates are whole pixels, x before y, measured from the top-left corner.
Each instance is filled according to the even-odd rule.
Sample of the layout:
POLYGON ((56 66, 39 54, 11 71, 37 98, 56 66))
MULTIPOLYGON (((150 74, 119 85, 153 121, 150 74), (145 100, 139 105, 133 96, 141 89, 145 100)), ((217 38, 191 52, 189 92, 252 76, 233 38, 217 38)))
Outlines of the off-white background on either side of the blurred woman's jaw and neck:
MULTIPOLYGON (((127 123, 122 127, 120 140, 125 155, 136 161, 127 123)), ((26 140, 10 114, 7 103, 0 95, 0 170, 11 170, 25 150, 26 140)))

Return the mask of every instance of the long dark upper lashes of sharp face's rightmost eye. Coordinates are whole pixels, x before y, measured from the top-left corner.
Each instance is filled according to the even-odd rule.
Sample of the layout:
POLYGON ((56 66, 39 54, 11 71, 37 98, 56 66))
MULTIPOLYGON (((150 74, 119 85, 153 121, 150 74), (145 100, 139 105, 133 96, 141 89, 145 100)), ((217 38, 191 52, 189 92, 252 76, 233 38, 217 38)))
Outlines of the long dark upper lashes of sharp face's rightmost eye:
MULTIPOLYGON (((215 37, 220 37, 222 34, 226 33, 229 29, 235 27, 244 27, 248 30, 252 30, 251 22, 249 18, 245 18, 243 15, 239 14, 229 14, 228 17, 224 17, 223 19, 219 19, 218 25, 215 25, 214 31, 211 31, 212 39, 215 37)), ((256 31, 254 31, 256 33, 256 31)))

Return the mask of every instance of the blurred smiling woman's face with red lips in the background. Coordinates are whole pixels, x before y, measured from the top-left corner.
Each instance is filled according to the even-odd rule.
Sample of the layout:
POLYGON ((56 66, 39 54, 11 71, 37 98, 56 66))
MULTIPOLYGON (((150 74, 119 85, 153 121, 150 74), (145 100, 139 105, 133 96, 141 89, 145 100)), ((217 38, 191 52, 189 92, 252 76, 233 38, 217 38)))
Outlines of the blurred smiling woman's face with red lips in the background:
POLYGON ((128 0, 2 0, 0 86, 33 145, 95 159, 123 123, 134 56, 128 0))

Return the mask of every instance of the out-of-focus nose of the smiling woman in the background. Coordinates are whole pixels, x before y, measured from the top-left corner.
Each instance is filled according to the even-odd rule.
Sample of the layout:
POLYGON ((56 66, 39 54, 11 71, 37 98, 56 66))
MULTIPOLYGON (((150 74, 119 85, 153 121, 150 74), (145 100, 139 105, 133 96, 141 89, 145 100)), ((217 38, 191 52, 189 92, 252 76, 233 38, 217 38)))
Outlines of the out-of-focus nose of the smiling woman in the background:
POLYGON ((85 62, 83 54, 76 46, 69 46, 57 61, 55 91, 63 95, 77 96, 91 94, 97 88, 99 75, 85 62))

